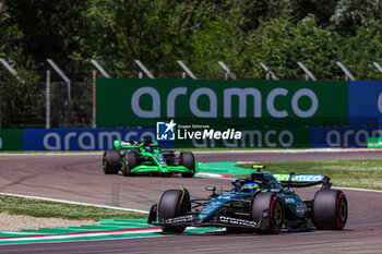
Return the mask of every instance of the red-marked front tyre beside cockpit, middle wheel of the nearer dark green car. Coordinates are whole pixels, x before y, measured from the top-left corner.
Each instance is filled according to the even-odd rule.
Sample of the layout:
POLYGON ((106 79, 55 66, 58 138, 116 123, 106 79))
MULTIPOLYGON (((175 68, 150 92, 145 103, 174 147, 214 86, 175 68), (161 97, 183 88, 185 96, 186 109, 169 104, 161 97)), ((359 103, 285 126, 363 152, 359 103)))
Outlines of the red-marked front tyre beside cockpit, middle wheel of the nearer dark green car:
POLYGON ((268 209, 268 225, 260 229, 261 233, 278 233, 284 222, 284 204, 279 195, 260 192, 252 198, 251 220, 260 223, 264 209, 268 209))

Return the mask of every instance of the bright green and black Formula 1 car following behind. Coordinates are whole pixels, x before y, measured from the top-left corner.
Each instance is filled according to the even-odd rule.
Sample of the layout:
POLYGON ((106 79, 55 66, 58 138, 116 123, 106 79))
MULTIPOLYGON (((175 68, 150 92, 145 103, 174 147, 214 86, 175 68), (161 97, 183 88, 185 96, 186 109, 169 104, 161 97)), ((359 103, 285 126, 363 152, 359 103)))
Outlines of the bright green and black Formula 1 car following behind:
POLYGON ((123 176, 181 173, 193 178, 198 161, 192 153, 160 149, 157 141, 115 141, 116 149, 105 150, 103 168, 106 174, 122 171, 123 176))

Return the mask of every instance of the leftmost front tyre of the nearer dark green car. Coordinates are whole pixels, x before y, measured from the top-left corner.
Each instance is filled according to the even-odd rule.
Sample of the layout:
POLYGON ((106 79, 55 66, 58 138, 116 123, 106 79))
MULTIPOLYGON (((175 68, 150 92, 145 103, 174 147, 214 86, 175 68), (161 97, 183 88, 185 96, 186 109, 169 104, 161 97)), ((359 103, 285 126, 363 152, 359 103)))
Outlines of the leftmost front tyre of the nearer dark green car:
MULTIPOLYGON (((158 221, 164 222, 166 219, 186 215, 191 210, 190 193, 183 189, 167 190, 160 197, 158 206, 158 221)), ((186 227, 163 226, 164 232, 181 233, 186 227)))

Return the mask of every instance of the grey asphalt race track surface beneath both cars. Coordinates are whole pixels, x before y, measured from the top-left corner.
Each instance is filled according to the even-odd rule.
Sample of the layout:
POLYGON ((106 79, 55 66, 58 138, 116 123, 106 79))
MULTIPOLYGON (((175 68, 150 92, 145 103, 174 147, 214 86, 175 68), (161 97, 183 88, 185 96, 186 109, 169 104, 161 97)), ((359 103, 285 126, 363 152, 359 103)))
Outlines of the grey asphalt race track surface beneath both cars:
MULTIPOLYGON (((208 153, 207 161, 382 159, 381 152, 208 153)), ((193 198, 205 185, 229 189, 223 179, 105 176, 100 154, 0 155, 0 192, 148 210, 162 193, 186 186, 193 198)), ((310 198, 318 189, 305 189, 310 198)), ((299 191, 300 192, 300 191, 299 191)), ((1 245, 0 253, 382 253, 382 193, 345 190, 349 217, 343 231, 262 235, 211 232, 70 243, 1 245)))

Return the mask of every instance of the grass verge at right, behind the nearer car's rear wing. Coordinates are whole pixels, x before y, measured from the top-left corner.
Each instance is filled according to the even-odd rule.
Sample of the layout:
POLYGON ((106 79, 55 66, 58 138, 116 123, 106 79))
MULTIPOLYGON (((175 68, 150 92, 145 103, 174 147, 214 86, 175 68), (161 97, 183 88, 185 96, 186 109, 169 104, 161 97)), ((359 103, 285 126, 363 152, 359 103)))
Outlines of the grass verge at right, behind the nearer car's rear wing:
MULTIPOLYGON (((382 190, 382 160, 264 161, 271 173, 317 173, 332 179, 333 185, 382 190)), ((250 165, 239 167, 249 168, 250 165)))

